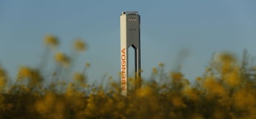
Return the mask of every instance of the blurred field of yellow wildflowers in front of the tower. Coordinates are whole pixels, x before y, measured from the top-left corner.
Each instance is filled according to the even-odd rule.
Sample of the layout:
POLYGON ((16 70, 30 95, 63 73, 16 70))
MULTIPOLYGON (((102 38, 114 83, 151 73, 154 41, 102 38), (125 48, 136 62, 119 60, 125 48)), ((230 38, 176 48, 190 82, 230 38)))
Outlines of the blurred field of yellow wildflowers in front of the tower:
POLYGON ((88 63, 82 72, 70 72, 77 54, 87 50, 81 39, 74 41, 71 56, 56 52, 56 36, 46 36, 45 44, 44 57, 54 55, 56 62, 52 71, 43 60, 39 68, 20 67, 12 81, 0 65, 0 118, 256 118, 256 69, 246 53, 242 63, 233 54, 216 54, 194 82, 182 72, 165 72, 160 63, 150 79, 142 79, 141 89, 135 90, 130 78, 129 94, 123 97, 111 77, 107 86, 88 84, 88 63), (61 80, 65 77, 71 80, 61 80))

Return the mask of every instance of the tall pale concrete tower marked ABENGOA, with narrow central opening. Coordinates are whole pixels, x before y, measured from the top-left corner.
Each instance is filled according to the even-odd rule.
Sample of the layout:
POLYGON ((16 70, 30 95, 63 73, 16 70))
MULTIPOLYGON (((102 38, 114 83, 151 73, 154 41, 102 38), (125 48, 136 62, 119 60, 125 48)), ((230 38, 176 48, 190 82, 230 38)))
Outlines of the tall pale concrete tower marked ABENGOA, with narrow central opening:
POLYGON ((121 94, 127 96, 129 76, 128 49, 135 51, 135 89, 140 88, 140 15, 138 12, 122 12, 120 16, 121 34, 121 94))

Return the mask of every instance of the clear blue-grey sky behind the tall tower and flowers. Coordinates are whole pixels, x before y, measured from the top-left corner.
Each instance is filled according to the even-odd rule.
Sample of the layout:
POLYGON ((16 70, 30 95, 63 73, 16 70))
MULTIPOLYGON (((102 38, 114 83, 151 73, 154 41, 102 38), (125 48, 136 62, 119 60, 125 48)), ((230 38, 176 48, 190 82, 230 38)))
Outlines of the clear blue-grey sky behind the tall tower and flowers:
POLYGON ((11 75, 20 65, 36 67, 43 54, 43 37, 58 36, 59 51, 70 52, 75 38, 88 44, 75 70, 87 71, 90 80, 105 73, 118 78, 122 11, 139 11, 143 77, 159 62, 167 71, 182 64, 193 80, 201 76, 213 52, 243 49, 256 56, 256 1, 0 1, 0 62, 11 75), (184 59, 179 52, 186 51, 184 59))

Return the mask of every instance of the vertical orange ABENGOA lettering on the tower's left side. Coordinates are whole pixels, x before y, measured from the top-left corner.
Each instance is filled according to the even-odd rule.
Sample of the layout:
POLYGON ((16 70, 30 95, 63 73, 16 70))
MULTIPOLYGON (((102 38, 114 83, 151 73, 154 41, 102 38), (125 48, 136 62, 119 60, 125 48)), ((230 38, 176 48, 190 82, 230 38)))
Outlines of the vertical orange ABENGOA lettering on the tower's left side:
POLYGON ((121 88, 126 93, 126 48, 121 50, 121 88))

